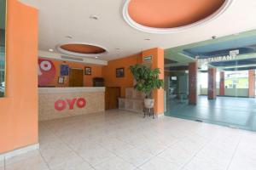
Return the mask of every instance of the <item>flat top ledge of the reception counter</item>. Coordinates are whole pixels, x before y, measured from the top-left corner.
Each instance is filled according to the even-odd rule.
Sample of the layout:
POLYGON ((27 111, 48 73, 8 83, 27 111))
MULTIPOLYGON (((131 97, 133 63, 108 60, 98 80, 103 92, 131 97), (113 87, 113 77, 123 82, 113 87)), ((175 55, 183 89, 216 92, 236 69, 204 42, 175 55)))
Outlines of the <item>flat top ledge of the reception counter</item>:
POLYGON ((87 92, 105 92, 105 87, 38 88, 38 94, 76 94, 87 92))

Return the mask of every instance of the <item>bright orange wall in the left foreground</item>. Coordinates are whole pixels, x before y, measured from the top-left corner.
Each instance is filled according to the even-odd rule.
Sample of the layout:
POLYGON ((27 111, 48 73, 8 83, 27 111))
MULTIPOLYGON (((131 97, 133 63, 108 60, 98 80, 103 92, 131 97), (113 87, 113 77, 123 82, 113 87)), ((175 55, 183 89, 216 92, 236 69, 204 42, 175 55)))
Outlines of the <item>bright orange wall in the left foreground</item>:
POLYGON ((38 143, 38 11, 8 0, 7 96, 0 99, 0 153, 38 143))

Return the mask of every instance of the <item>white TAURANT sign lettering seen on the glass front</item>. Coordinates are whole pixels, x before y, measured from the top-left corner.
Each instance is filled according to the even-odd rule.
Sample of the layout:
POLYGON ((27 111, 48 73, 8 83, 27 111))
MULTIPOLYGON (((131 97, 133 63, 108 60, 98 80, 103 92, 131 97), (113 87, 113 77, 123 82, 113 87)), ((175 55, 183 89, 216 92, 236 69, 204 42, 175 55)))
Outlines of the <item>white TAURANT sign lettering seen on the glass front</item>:
POLYGON ((210 63, 210 62, 217 62, 217 61, 234 60, 234 59, 236 59, 236 56, 238 54, 239 54, 239 50, 232 50, 232 51, 230 51, 229 55, 210 57, 210 58, 207 58, 207 59, 199 59, 199 61, 201 63, 210 63))

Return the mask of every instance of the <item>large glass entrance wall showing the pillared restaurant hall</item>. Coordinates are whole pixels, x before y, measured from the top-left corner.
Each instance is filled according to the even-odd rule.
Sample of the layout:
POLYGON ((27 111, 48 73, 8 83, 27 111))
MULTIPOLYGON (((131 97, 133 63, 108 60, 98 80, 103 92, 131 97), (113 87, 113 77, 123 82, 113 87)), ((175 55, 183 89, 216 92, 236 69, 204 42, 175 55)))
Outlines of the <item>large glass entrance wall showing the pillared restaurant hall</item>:
POLYGON ((256 131, 256 31, 241 36, 166 49, 166 116, 256 131))

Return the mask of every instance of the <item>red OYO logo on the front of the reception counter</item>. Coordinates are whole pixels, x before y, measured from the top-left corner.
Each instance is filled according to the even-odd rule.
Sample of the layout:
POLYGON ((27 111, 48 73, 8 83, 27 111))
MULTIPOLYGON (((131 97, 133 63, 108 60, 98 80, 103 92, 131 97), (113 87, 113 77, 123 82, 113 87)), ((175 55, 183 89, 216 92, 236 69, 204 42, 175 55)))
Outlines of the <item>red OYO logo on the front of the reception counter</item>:
POLYGON ((68 110, 73 110, 74 105, 77 105, 79 109, 82 109, 86 105, 86 100, 84 98, 74 98, 74 99, 58 99, 55 101, 55 110, 57 111, 63 111, 66 110, 68 107, 68 110))

